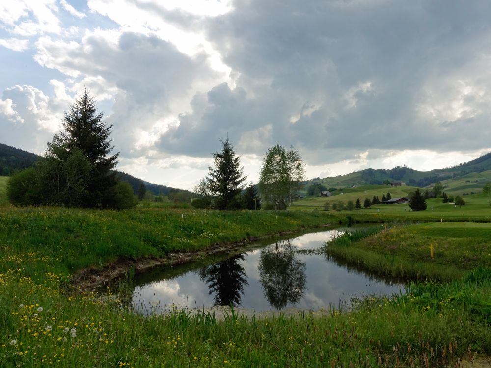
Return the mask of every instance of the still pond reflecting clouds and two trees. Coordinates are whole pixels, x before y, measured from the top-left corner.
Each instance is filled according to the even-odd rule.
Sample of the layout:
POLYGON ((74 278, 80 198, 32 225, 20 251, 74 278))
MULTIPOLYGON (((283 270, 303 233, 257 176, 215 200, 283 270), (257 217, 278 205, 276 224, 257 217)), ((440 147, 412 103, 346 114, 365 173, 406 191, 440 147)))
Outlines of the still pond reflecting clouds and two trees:
POLYGON ((329 259, 324 242, 341 229, 270 239, 192 264, 154 270, 134 279, 131 306, 144 314, 171 306, 239 306, 254 311, 349 306, 355 297, 391 295, 404 284, 329 259))

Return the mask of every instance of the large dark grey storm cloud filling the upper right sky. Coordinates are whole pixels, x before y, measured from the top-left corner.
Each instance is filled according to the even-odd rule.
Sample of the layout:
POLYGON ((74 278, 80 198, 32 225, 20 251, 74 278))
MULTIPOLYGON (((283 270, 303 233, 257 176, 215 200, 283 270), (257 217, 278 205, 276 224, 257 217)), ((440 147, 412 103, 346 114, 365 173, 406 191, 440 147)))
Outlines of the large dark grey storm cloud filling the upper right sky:
POLYGON ((490 16, 487 1, 236 1, 207 31, 237 87, 196 96, 159 147, 206 156, 204 137, 265 127, 260 146, 295 145, 310 163, 488 147, 490 16))

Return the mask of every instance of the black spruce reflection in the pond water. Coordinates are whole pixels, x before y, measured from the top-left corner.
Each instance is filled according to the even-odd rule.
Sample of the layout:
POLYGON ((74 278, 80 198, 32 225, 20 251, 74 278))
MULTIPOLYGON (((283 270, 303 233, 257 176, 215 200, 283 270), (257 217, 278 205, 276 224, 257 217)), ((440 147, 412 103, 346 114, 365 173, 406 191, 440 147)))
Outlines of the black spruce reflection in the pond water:
POLYGON ((246 271, 239 261, 244 261, 244 254, 209 265, 198 272, 210 289, 208 293, 215 293, 215 305, 241 304, 241 294, 244 295, 244 285, 248 283, 246 271))

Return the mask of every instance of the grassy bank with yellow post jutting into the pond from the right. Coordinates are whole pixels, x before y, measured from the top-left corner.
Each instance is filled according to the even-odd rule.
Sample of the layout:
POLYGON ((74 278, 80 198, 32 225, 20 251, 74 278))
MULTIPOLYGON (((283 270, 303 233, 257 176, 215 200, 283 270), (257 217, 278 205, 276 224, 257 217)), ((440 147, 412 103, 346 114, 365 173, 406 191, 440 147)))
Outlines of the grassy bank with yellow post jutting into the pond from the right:
POLYGON ((491 224, 424 223, 370 235, 360 229, 329 242, 340 262, 408 280, 448 281, 473 268, 491 267, 491 224))

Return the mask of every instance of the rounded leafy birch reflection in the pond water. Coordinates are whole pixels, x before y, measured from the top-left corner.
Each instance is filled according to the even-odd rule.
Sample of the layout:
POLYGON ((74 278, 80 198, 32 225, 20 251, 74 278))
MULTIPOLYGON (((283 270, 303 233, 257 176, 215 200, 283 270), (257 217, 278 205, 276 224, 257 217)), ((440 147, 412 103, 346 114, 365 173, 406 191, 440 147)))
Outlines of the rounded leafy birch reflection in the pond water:
POLYGON ((261 250, 259 277, 264 296, 276 309, 296 304, 305 289, 305 262, 295 257, 289 240, 281 240, 261 250))

